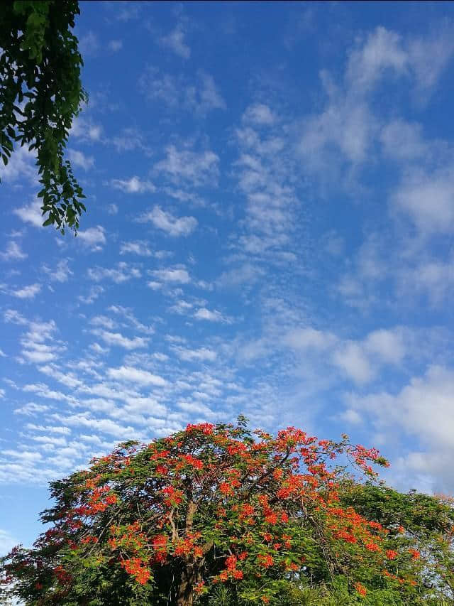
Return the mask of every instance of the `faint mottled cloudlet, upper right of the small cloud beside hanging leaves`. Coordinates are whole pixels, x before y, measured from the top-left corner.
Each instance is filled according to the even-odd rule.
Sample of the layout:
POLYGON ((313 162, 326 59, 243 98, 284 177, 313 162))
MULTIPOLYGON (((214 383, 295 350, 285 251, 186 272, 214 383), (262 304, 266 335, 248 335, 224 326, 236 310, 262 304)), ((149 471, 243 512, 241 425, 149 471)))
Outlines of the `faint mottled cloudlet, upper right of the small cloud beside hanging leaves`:
POLYGON ((214 151, 196 152, 190 149, 177 150, 167 146, 166 158, 155 164, 156 173, 164 173, 172 183, 189 183, 194 187, 218 183, 219 157, 214 151))

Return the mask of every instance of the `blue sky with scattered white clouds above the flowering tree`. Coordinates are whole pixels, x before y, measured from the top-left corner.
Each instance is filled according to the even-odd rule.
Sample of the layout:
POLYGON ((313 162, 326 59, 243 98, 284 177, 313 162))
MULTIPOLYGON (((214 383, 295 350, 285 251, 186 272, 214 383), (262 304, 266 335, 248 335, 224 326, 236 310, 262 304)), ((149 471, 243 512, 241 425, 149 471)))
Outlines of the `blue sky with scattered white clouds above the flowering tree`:
POLYGON ((349 433, 452 492, 454 4, 81 4, 76 238, 1 169, 0 551, 188 422, 349 433))

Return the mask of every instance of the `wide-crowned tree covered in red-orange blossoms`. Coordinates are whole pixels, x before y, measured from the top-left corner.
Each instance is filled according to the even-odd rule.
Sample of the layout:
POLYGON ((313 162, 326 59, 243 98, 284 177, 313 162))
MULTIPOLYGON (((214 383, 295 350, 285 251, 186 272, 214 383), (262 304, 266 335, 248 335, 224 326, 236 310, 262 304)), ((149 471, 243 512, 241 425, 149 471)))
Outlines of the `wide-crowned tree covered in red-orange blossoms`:
POLYGON ((347 436, 252 435, 241 417, 124 443, 52 483, 56 504, 42 516, 52 526, 4 558, 4 594, 29 605, 191 606, 226 586, 237 604, 267 604, 292 580, 342 577, 358 599, 393 590, 416 603, 419 553, 399 554, 399 574, 387 529, 340 501, 348 460, 372 478, 371 463, 387 465, 347 436))

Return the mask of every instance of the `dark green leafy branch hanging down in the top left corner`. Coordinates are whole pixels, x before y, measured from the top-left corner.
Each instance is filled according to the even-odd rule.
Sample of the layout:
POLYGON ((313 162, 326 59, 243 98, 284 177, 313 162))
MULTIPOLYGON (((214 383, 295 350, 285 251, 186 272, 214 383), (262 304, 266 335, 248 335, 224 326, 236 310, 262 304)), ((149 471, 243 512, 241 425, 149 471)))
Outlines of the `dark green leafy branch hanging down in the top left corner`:
POLYGON ((87 93, 82 57, 70 31, 77 0, 4 0, 0 9, 0 148, 6 165, 14 143, 35 150, 44 225, 77 232, 85 198, 65 160, 72 119, 87 93))

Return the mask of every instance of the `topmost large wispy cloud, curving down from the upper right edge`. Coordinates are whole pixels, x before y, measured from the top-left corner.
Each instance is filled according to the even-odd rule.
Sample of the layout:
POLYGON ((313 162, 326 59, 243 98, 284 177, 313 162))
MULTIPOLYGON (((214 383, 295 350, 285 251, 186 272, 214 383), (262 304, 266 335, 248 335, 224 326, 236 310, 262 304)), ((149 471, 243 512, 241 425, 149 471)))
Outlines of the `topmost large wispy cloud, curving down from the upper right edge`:
MULTIPOLYGON (((398 136, 399 121, 394 128, 383 129, 380 124, 383 117, 372 111, 372 94, 377 87, 385 78, 389 84, 393 78, 399 78, 421 101, 421 92, 423 97, 427 96, 453 53, 452 32, 448 28, 426 38, 402 38, 394 31, 378 27, 365 39, 358 38, 341 82, 336 84, 328 72, 321 72, 328 100, 321 112, 304 120, 300 145, 304 167, 323 180, 329 179, 331 183, 344 180, 345 187, 353 188, 355 175, 351 168, 370 161, 377 139, 382 139, 389 153, 390 144, 398 136), (433 54, 435 50, 438 55, 433 54), (436 65, 432 56, 437 56, 436 65), (326 166, 331 170, 327 172, 326 166)), ((399 132, 398 145, 391 154, 404 159, 420 153, 418 133, 407 126, 399 132)))

